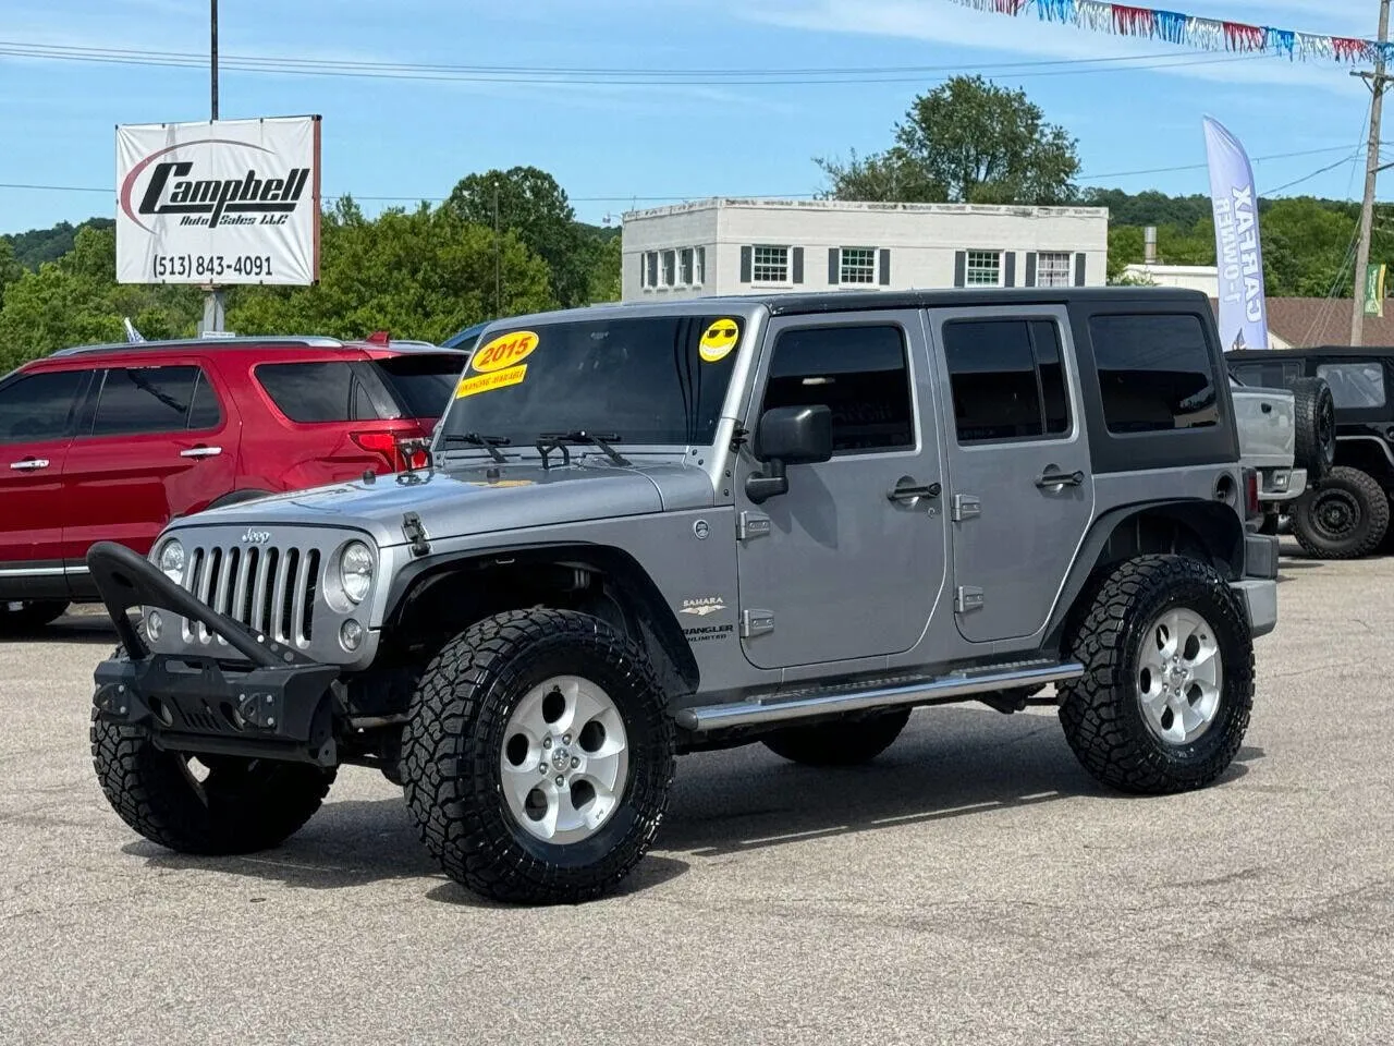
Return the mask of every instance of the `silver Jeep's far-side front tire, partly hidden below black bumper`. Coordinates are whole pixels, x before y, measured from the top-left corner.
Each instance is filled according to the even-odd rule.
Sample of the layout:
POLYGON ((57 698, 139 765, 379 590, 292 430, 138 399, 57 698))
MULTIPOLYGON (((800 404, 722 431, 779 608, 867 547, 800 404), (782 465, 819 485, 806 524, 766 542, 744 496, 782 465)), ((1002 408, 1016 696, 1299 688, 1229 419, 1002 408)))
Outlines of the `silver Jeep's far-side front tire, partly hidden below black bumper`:
MULTIPOLYGON (((118 647, 116 658, 125 653, 118 647)), ((155 748, 139 727, 92 710, 92 764, 107 802, 141 835, 180 854, 217 856, 279 847, 319 809, 335 771, 308 763, 198 756, 208 777, 195 785, 188 759, 155 748)))

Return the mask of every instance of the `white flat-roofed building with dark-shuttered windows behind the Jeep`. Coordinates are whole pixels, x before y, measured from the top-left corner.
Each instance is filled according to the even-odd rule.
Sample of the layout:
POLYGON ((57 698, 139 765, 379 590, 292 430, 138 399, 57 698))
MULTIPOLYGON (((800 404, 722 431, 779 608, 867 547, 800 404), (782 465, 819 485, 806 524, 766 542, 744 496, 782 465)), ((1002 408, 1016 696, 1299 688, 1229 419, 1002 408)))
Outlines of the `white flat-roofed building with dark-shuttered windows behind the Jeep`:
POLYGON ((1108 209, 705 199, 625 215, 625 301, 1101 286, 1108 209))

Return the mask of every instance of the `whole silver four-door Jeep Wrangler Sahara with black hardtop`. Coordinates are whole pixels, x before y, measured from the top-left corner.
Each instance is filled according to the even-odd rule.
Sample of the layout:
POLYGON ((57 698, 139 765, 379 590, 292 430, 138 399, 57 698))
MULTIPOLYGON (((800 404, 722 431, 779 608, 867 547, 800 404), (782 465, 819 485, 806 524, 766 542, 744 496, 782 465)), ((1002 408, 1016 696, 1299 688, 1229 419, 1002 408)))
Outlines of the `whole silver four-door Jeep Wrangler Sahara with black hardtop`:
POLYGON ((861 763, 963 700, 1058 706, 1098 780, 1178 792, 1238 752, 1277 618, 1202 294, 524 317, 431 459, 92 548, 123 642, 92 753, 135 831, 275 847, 369 766, 450 877, 579 901, 652 844, 675 755, 861 763))

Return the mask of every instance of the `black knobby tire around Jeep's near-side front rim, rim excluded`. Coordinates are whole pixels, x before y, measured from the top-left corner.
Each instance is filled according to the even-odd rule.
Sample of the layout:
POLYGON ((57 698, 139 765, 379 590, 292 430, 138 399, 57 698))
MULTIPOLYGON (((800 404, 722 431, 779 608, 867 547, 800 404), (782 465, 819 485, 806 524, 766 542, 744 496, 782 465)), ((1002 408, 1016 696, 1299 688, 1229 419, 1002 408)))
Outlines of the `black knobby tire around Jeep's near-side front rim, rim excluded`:
POLYGON ((673 722, 648 657, 599 618, 574 611, 496 614, 450 640, 421 678, 401 742, 407 809, 431 855, 471 891, 514 904, 576 904, 608 893, 640 862, 668 809, 673 722), (505 802, 509 717, 556 675, 601 686, 625 721, 629 780, 597 833, 544 842, 505 802))

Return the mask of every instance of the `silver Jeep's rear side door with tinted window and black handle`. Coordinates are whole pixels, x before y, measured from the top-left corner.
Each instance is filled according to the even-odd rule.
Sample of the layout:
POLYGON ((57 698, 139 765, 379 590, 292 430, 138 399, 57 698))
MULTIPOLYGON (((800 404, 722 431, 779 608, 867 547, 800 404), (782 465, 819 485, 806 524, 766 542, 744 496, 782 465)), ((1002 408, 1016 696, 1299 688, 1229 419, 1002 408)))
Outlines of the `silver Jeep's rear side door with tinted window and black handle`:
POLYGON ((959 633, 1032 636, 1094 512, 1079 374, 1061 307, 931 312, 959 633))

